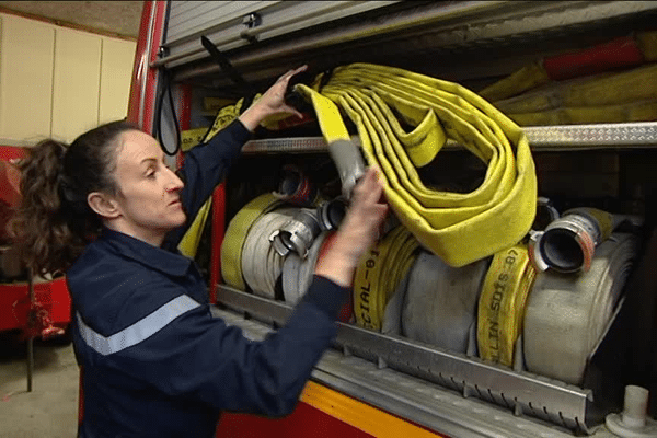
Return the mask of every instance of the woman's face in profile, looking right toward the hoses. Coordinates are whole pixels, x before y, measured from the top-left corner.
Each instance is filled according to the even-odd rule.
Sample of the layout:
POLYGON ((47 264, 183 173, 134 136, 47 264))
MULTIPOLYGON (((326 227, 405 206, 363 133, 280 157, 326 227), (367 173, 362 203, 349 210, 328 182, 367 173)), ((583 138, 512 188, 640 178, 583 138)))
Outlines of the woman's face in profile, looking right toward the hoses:
POLYGON ((115 176, 120 231, 159 245, 166 232, 185 222, 183 182, 166 166, 153 137, 138 130, 123 132, 115 176))

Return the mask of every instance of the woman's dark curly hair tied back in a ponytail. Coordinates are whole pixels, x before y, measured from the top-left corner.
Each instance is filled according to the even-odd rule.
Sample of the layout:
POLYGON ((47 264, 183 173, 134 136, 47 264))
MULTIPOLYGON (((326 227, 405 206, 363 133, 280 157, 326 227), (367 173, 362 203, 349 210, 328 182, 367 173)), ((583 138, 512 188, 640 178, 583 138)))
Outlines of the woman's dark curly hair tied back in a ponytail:
POLYGON ((81 135, 70 147, 44 140, 20 164, 22 201, 12 231, 34 274, 64 273, 97 234, 101 219, 87 195, 116 193, 120 134, 129 130, 138 128, 119 120, 81 135))

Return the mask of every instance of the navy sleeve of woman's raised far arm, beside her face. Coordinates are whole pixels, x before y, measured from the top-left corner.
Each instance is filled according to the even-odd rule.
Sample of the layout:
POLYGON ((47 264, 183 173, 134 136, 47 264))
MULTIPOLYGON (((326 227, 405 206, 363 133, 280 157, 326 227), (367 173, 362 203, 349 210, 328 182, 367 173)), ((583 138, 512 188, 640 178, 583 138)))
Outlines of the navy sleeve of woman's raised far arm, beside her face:
POLYGON ((187 222, 166 237, 168 246, 175 247, 180 243, 198 210, 223 180, 251 136, 251 131, 240 120, 234 120, 207 143, 198 145, 185 154, 185 162, 177 174, 185 183, 181 198, 187 214, 187 222))

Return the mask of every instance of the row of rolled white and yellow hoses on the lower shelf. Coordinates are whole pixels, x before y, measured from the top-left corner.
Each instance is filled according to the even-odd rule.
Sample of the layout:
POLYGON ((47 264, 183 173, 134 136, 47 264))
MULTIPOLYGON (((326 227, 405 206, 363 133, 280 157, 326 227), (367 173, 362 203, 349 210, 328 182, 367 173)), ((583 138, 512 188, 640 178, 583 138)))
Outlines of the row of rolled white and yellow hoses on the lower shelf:
MULTIPOLYGON (((281 256, 272 235, 300 207, 274 199, 262 195, 231 220, 222 252, 241 251, 222 258, 222 268, 230 286, 293 306, 336 233, 320 233, 304 256, 281 256), (227 275, 237 261, 244 286, 233 280, 234 272, 227 275)), ((525 242, 453 267, 400 224, 366 251, 353 306, 341 321, 374 331, 396 326, 393 334, 410 339, 580 384, 621 304, 636 247, 635 235, 614 232, 596 249, 590 268, 577 273, 537 272, 525 242), (395 293, 396 309, 388 308, 395 293)))

